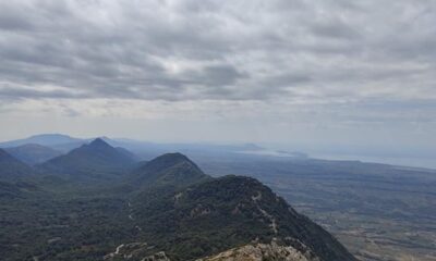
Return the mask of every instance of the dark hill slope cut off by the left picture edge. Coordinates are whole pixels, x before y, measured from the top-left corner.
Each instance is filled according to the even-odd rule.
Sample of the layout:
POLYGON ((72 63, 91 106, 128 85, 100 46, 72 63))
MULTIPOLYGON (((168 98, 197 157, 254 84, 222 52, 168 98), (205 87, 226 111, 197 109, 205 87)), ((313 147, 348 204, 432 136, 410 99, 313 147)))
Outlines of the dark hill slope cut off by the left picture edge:
POLYGON ((17 181, 34 174, 34 170, 0 149, 0 181, 17 181))

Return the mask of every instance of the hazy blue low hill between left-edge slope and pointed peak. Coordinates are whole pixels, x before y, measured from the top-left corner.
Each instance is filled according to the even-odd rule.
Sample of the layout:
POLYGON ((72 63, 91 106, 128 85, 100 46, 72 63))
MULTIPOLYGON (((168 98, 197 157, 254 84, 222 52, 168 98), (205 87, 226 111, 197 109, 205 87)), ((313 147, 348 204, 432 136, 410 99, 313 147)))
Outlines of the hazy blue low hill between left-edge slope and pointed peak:
POLYGON ((38 164, 62 154, 58 150, 38 144, 26 144, 5 148, 4 150, 29 165, 38 164))

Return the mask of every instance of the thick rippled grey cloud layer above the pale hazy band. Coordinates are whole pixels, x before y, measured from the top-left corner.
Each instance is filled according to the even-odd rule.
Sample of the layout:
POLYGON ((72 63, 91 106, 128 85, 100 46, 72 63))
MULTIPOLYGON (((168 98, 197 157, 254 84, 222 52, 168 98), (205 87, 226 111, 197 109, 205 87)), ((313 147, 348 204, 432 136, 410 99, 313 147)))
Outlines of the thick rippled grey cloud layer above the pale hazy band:
POLYGON ((428 89, 405 86, 416 75, 435 80, 435 4, 386 5, 392 10, 376 1, 2 2, 0 87, 11 99, 310 102, 307 87, 326 99, 363 99, 359 86, 384 83, 407 98, 405 88, 428 89))

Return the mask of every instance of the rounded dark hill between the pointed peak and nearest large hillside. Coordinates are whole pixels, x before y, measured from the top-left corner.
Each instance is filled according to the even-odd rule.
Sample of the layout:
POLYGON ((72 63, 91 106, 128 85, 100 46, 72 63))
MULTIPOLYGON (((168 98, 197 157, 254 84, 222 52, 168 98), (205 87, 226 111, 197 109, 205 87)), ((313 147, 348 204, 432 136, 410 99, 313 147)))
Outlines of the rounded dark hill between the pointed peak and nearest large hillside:
POLYGON ((209 176, 187 157, 181 153, 167 153, 134 170, 130 182, 136 186, 183 187, 207 179, 209 176))

